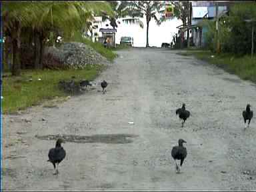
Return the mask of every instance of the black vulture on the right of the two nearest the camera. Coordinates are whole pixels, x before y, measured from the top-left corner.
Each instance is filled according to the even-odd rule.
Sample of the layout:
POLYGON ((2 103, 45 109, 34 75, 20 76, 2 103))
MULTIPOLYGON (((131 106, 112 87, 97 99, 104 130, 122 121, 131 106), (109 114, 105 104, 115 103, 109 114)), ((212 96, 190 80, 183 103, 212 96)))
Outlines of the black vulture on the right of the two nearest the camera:
POLYGON ((179 146, 175 146, 171 150, 171 157, 173 157, 173 159, 175 160, 177 173, 180 173, 181 167, 177 165, 177 160, 181 161, 180 166, 182 166, 184 159, 187 157, 187 149, 186 147, 183 147, 183 143, 187 143, 187 142, 184 141, 183 139, 179 139, 178 142, 179 142, 179 146))

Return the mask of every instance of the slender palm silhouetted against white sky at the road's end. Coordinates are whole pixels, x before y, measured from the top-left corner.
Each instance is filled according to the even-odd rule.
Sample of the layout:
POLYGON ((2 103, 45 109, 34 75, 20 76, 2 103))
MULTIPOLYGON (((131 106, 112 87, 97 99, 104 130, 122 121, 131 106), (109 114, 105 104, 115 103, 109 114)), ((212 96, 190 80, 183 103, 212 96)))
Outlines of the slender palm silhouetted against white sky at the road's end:
POLYGON ((155 19, 157 25, 161 24, 161 21, 164 21, 163 18, 157 18, 157 13, 162 13, 161 9, 164 6, 163 1, 130 1, 127 7, 127 15, 132 18, 123 19, 126 23, 137 23, 143 27, 142 21, 139 18, 143 18, 144 15, 147 21, 147 44, 146 47, 149 47, 149 22, 151 19, 155 19), (139 17, 139 18, 138 18, 139 17))

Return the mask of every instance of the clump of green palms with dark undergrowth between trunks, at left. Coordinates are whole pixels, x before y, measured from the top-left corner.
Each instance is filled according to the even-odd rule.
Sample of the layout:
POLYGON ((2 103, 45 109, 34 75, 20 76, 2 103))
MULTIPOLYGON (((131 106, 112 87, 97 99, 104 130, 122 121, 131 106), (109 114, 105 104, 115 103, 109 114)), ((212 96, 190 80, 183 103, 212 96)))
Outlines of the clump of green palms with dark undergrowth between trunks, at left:
POLYGON ((1 11, 5 23, 3 35, 6 37, 4 58, 7 58, 7 50, 12 48, 12 75, 19 76, 21 69, 25 69, 21 66, 27 59, 23 58, 22 44, 27 46, 26 49, 33 50, 33 57, 28 59, 33 60, 33 69, 43 69, 45 46, 54 45, 59 35, 69 41, 75 31, 88 31, 93 16, 101 16, 102 12, 113 15, 106 1, 4 1, 1 11))

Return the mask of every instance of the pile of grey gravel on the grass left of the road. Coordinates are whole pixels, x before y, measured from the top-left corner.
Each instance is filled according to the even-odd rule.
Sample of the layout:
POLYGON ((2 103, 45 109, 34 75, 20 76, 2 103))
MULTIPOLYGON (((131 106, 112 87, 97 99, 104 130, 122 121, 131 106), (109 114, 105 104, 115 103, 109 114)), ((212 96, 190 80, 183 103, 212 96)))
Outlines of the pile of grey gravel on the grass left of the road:
MULTIPOLYGON (((59 49, 56 47, 47 47, 45 57, 53 57, 63 68, 83 69, 86 65, 95 65, 107 63, 107 59, 97 53, 85 43, 69 42, 63 43, 59 49)), ((47 58, 44 59, 47 61, 47 58)), ((44 63, 45 67, 52 63, 44 63)), ((58 66, 59 67, 59 66, 58 66)))

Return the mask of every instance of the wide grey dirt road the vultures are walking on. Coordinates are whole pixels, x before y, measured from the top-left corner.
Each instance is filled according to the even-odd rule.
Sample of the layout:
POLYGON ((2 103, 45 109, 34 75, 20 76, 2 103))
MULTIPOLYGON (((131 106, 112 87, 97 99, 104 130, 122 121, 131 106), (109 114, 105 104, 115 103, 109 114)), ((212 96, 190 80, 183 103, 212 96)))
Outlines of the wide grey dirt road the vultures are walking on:
POLYGON ((98 84, 55 107, 3 117, 3 189, 256 189, 256 123, 244 130, 241 115, 247 103, 256 111, 253 83, 167 49, 117 53, 95 79, 109 83, 106 94, 98 84), (182 128, 175 110, 183 102, 191 117, 182 128), (58 134, 67 157, 53 175, 47 154, 58 134), (188 155, 177 174, 179 138, 188 155))

